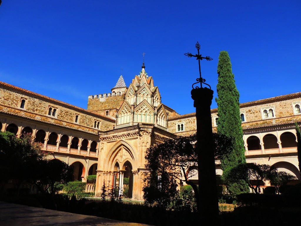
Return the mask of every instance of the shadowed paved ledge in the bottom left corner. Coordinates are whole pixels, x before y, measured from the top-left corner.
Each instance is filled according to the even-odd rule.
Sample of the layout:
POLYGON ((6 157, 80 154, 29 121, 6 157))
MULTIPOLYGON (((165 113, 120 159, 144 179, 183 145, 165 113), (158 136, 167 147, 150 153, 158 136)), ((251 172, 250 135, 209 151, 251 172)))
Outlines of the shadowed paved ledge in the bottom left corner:
POLYGON ((61 225, 61 226, 147 226, 107 218, 80 215, 30 206, 0 202, 1 226, 61 225))

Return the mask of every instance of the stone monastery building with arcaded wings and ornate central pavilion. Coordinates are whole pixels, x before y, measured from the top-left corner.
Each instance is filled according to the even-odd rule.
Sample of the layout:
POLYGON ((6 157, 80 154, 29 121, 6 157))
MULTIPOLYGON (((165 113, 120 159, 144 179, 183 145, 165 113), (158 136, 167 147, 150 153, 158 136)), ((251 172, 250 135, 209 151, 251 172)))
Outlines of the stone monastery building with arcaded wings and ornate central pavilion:
MULTIPOLYGON (((0 129, 18 137, 32 133, 48 158, 73 166, 74 180, 85 182, 97 174, 95 196, 103 182, 123 187, 127 177, 128 197, 143 199, 146 149, 196 132, 195 113, 179 115, 161 103, 144 68, 143 63, 129 86, 120 76, 111 93, 89 96, 87 110, 0 82, 0 129)), ((247 162, 273 165, 301 179, 295 131, 295 122, 301 124, 300 106, 301 92, 240 104, 247 162)), ((216 132, 217 109, 211 115, 216 132)), ((218 159, 216 173, 222 174, 218 159)), ((86 191, 93 186, 87 184, 86 191)))

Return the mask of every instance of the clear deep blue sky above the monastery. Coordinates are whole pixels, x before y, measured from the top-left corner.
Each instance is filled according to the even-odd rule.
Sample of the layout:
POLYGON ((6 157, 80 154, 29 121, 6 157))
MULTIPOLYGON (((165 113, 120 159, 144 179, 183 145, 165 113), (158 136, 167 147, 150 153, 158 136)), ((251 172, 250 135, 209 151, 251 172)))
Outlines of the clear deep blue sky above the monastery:
MULTIPOLYGON (((0 6, 0 80, 82 108, 145 70, 162 102, 195 111, 202 75, 217 96, 219 52, 228 51, 240 102, 301 91, 301 1, 20 1, 0 6)), ((212 108, 216 108, 213 99, 212 108)))

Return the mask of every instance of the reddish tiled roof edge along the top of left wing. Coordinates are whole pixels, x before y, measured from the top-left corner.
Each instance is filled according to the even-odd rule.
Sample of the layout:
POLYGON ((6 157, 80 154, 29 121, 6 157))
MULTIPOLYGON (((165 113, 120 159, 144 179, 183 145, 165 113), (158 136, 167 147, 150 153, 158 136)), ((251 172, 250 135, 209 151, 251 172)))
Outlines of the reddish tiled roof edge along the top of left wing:
POLYGON ((33 96, 36 96, 36 97, 39 97, 39 98, 42 98, 42 99, 45 99, 45 100, 48 100, 48 101, 56 102, 58 104, 65 105, 67 107, 75 108, 77 110, 83 111, 86 114, 96 115, 97 117, 101 117, 101 118, 103 118, 104 120, 107 120, 107 121, 112 121, 112 122, 115 121, 115 120, 113 120, 110 117, 107 117, 107 116, 104 116, 104 115, 100 115, 100 114, 94 113, 92 111, 86 110, 84 108, 80 108, 80 107, 77 107, 75 105, 71 105, 71 104, 68 104, 66 102, 63 102, 63 101, 60 101, 60 100, 57 100, 57 99, 53 99, 53 98, 50 98, 48 96, 41 95, 39 93, 34 93, 34 92, 29 91, 27 89, 22 89, 20 87, 13 86, 11 84, 8 84, 8 83, 2 82, 2 81, 0 81, 0 86, 5 86, 5 87, 9 87, 9 88, 12 88, 12 89, 15 89, 15 90, 20 90, 20 91, 22 91, 24 93, 27 93, 27 94, 30 94, 30 95, 33 95, 33 96))

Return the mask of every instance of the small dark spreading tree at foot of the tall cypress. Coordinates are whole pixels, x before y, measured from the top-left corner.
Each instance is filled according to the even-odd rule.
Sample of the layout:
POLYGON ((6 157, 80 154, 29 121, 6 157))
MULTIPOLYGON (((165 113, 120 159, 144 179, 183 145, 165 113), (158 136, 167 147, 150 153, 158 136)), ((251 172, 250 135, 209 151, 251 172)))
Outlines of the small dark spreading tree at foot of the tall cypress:
POLYGON ((240 186, 249 186, 256 194, 263 180, 268 179, 270 165, 257 163, 241 163, 234 166, 225 175, 225 180, 240 186))

